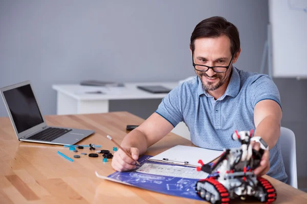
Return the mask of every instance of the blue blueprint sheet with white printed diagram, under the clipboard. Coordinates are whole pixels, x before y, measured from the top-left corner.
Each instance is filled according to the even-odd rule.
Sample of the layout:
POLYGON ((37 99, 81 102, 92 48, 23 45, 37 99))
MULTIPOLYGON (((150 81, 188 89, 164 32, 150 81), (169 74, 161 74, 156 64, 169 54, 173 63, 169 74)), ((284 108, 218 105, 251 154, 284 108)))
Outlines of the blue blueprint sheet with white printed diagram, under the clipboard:
POLYGON ((142 166, 133 171, 114 172, 107 177, 159 193, 203 200, 195 193, 195 184, 200 179, 205 179, 207 173, 202 174, 193 167, 147 161, 150 157, 143 155, 138 160, 142 166))

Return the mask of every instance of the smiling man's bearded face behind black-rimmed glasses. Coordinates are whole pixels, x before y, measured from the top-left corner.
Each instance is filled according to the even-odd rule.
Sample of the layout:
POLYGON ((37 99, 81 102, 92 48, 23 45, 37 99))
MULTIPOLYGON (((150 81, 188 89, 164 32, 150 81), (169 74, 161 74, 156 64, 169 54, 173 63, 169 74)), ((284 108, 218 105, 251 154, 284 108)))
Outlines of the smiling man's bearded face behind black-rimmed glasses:
MULTIPOLYGON (((232 54, 230 52, 230 40, 222 35, 217 38, 198 38, 194 42, 194 63, 207 66, 228 66, 232 54)), ((233 61, 236 59, 233 59, 233 61)), ((204 67, 205 69, 206 67, 204 67)), ((213 69, 197 71, 203 83, 205 91, 214 91, 220 88, 230 77, 231 66, 225 73, 216 73, 213 69)))

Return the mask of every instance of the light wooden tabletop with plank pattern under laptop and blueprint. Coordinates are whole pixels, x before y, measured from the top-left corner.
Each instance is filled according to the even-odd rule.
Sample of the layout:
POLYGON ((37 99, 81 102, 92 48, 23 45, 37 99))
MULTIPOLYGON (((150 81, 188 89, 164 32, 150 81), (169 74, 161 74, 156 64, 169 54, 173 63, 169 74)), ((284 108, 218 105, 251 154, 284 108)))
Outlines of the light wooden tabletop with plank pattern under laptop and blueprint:
MULTIPOLYGON (((49 125, 95 130, 80 144, 100 144, 104 149, 114 146, 106 135, 120 143, 127 134, 126 124, 143 122, 127 112, 54 115, 46 120, 49 125)), ((192 145, 170 133, 146 154, 156 155, 177 144, 192 145)), ((0 118, 0 203, 205 203, 99 179, 95 170, 105 176, 114 172, 111 161, 102 163, 101 156, 82 156, 70 162, 60 157, 58 150, 70 157, 75 154, 61 145, 19 142, 9 118, 0 118)), ((84 148, 80 152, 91 151, 84 148)), ((274 203, 307 203, 307 193, 266 177, 278 193, 274 203)))

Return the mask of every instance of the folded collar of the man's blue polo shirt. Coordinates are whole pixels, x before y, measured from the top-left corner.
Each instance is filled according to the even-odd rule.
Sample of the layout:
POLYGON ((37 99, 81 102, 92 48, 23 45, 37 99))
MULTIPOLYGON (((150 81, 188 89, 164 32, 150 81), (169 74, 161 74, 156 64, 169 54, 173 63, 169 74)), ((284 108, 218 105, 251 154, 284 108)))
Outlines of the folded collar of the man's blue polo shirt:
MULTIPOLYGON (((198 95, 201 96, 202 94, 205 94, 207 97, 213 97, 207 91, 204 91, 201 79, 199 77, 197 78, 198 78, 198 91, 197 91, 198 95)), ((226 88, 224 95, 221 96, 220 99, 223 99, 226 95, 235 97, 239 93, 239 89, 240 89, 240 76, 237 68, 233 66, 229 84, 226 88)))

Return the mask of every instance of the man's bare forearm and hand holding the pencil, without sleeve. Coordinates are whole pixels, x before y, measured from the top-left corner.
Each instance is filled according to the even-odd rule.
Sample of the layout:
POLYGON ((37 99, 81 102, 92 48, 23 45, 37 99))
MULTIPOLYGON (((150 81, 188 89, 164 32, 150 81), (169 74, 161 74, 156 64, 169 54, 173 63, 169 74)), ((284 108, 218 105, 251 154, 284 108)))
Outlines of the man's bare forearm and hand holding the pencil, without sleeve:
MULTIPOLYGON (((153 113, 140 126, 124 137, 121 146, 137 160, 139 155, 143 155, 149 146, 161 140, 173 128, 169 121, 158 113, 153 113)), ((114 154, 112 167, 117 171, 128 171, 136 168, 136 165, 134 160, 119 149, 114 154)))

